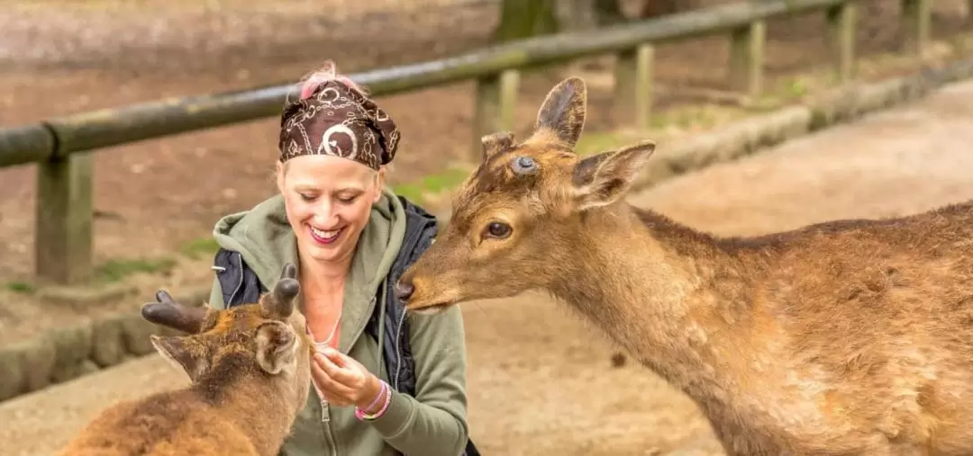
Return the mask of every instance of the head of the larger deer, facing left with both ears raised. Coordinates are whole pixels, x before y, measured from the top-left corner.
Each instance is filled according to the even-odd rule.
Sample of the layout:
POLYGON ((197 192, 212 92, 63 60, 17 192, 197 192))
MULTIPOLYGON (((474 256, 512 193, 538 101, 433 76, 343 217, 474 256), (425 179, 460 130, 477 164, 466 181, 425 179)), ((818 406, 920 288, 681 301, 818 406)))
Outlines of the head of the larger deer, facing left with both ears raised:
POLYGON ((525 141, 484 136, 480 166, 453 195, 450 225, 396 286, 407 308, 552 290, 569 279, 567 266, 583 265, 592 227, 628 210, 624 196, 655 151, 646 141, 579 157, 586 103, 584 81, 568 78, 548 93, 525 141))

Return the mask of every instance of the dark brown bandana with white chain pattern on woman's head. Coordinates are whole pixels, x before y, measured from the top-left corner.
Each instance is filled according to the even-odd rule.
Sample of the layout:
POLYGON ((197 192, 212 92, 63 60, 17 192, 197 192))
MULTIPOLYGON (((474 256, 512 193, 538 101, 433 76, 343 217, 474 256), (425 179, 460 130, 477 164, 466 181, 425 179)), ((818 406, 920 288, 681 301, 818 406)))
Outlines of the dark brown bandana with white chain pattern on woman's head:
POLYGON ((374 101, 328 81, 280 116, 280 161, 298 156, 348 158, 373 169, 395 158, 399 128, 374 101))

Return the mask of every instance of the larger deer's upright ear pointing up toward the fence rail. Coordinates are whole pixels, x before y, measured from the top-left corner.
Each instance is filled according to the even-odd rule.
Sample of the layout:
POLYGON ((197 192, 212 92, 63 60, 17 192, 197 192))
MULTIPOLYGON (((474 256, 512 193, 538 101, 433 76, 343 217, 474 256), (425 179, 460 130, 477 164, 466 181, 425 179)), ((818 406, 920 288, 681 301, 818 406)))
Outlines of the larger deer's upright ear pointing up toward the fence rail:
POLYGON ((581 78, 561 81, 548 92, 537 112, 534 135, 550 134, 567 147, 573 148, 585 127, 588 88, 581 78))

